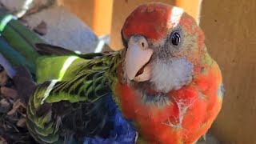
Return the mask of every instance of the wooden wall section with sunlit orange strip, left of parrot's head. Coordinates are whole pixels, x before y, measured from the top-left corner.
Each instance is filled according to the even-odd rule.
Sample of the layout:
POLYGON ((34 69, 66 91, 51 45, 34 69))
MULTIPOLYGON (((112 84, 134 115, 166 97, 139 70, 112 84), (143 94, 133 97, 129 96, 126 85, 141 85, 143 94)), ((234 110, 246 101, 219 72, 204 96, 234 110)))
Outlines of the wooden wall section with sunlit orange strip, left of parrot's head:
POLYGON ((110 34, 113 0, 58 0, 98 36, 110 34))

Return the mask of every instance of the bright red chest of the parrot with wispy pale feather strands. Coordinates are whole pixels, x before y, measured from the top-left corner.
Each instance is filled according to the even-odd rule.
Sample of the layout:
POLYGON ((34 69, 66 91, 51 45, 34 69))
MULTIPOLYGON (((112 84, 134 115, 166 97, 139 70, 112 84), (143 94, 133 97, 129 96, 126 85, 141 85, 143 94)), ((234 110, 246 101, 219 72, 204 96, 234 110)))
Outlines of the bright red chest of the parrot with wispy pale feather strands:
POLYGON ((116 91, 122 113, 147 143, 176 144, 196 141, 218 114, 221 103, 209 90, 206 97, 198 86, 185 86, 168 94, 166 102, 152 103, 142 102, 129 86, 120 85, 116 91))

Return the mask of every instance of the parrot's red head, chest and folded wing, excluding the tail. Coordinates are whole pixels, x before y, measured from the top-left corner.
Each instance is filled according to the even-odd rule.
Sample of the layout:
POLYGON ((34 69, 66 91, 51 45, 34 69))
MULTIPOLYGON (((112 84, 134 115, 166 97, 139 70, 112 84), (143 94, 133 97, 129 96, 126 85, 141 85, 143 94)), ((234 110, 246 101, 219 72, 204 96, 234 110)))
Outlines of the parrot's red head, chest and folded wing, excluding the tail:
POLYGON ((61 73, 30 95, 26 125, 34 139, 192 144, 206 134, 224 88, 194 18, 176 6, 142 4, 126 18, 121 37, 118 51, 41 62, 54 68, 68 57, 61 73))

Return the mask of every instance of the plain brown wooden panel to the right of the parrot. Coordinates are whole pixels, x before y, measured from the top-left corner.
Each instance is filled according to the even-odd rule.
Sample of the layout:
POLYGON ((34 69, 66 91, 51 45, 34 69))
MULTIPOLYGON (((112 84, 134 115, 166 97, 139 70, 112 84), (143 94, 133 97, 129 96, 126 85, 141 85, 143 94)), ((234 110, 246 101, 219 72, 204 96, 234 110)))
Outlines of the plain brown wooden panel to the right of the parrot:
POLYGON ((256 143, 256 1, 203 0, 201 27, 225 95, 212 130, 222 143, 256 143))

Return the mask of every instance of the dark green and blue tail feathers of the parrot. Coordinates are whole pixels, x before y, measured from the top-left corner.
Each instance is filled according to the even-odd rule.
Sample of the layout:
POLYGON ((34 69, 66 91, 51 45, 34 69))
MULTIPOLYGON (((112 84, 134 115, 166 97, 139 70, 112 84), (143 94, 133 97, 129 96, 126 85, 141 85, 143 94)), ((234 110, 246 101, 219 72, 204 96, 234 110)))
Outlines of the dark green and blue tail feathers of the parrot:
POLYGON ((1 27, 0 52, 12 66, 25 66, 35 74, 36 60, 40 56, 34 50, 35 42, 44 42, 34 32, 14 19, 6 10, 0 9, 1 27), (9 19, 10 21, 6 21, 9 19))

